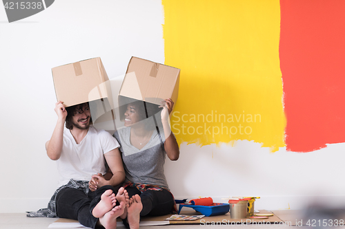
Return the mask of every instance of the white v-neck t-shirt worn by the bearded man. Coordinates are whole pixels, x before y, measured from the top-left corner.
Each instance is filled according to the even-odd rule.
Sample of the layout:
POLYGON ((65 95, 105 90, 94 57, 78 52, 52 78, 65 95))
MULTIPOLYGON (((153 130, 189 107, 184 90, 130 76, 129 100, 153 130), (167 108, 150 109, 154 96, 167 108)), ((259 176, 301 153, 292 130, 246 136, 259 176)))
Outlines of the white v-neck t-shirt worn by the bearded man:
POLYGON ((61 156, 57 160, 59 186, 70 179, 89 181, 92 175, 106 173, 105 153, 120 145, 107 131, 90 126, 85 138, 77 144, 69 129, 63 130, 61 156))

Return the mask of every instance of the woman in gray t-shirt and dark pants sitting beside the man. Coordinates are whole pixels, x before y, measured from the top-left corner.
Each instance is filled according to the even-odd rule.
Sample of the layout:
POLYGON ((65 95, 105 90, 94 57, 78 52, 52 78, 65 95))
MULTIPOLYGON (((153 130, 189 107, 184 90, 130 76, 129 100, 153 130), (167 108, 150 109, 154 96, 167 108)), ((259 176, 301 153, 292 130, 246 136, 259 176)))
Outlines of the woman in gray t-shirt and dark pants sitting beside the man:
MULTIPOLYGON (((125 128, 114 134, 126 171, 124 187, 132 197, 131 204, 141 201, 140 216, 166 215, 175 207, 164 175, 166 155, 172 161, 179 158, 179 146, 168 121, 173 105, 170 98, 160 107, 138 100, 130 102, 121 118, 125 128)), ((128 208, 131 224, 130 217, 128 208)))

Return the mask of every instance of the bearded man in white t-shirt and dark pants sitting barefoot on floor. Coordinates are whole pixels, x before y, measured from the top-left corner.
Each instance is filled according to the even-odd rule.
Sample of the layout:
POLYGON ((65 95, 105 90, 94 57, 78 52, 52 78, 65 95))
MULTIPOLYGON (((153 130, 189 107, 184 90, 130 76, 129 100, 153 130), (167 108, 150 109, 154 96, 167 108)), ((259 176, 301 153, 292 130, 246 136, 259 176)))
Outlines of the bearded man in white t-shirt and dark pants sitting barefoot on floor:
POLYGON ((61 217, 76 219, 90 228, 99 224, 116 228, 116 219, 124 214, 129 202, 124 188, 114 188, 125 179, 119 143, 110 133, 90 126, 88 102, 65 107, 59 101, 55 112, 58 120, 46 150, 48 157, 57 161, 59 188, 48 208, 29 212, 28 217, 61 217), (106 163, 113 174, 108 180, 103 177, 106 163), (95 174, 97 190, 90 192, 88 182, 95 174))

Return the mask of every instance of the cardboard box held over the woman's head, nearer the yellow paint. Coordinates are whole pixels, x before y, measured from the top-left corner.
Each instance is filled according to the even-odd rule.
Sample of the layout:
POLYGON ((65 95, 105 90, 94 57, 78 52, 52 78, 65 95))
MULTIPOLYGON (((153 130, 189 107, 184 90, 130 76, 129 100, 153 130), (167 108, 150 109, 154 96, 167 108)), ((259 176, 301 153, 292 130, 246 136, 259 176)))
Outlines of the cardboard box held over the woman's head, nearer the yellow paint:
POLYGON ((120 118, 124 118, 126 105, 132 100, 161 105, 164 99, 171 98, 176 104, 179 72, 178 68, 133 56, 119 91, 120 118))

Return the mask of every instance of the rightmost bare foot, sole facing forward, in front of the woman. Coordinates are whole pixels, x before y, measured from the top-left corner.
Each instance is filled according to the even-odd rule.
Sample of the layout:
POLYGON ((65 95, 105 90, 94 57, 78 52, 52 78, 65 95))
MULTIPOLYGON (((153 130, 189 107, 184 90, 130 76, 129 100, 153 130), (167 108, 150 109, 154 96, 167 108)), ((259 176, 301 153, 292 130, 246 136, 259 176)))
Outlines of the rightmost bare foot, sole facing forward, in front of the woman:
POLYGON ((143 209, 143 204, 141 204, 141 198, 139 195, 133 195, 130 197, 129 204, 127 207, 127 219, 130 229, 138 229, 140 222, 140 212, 143 209))

